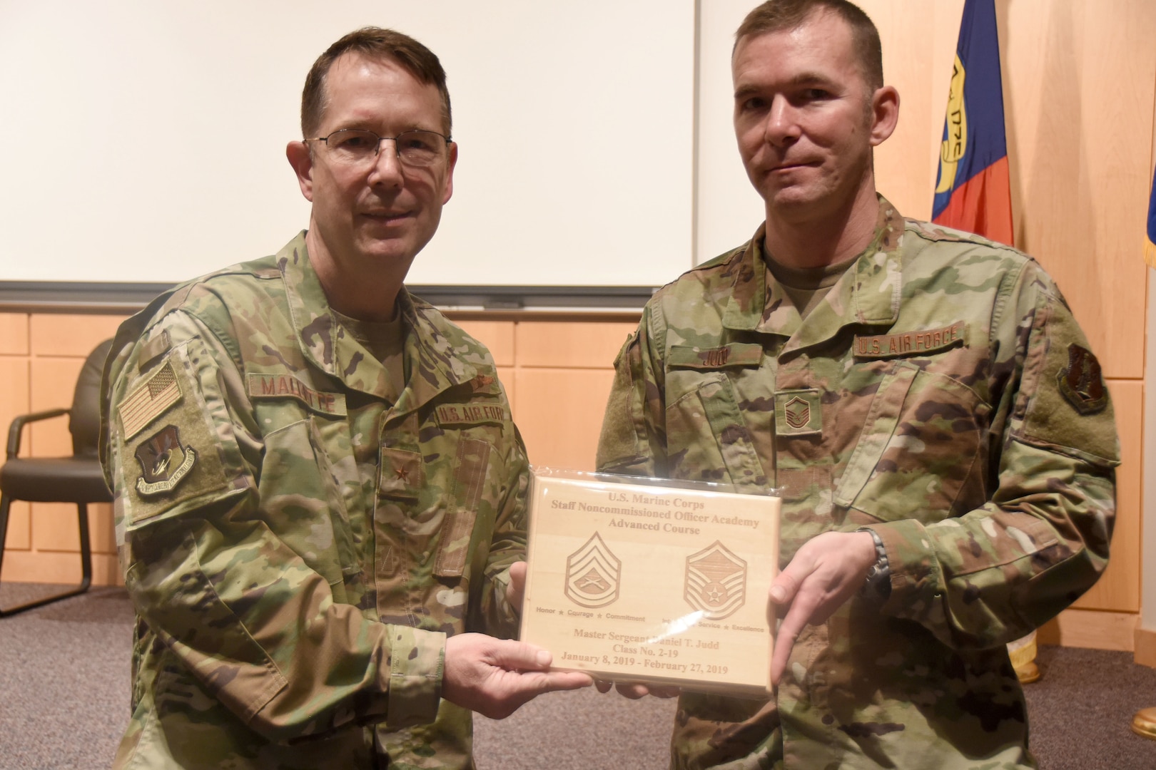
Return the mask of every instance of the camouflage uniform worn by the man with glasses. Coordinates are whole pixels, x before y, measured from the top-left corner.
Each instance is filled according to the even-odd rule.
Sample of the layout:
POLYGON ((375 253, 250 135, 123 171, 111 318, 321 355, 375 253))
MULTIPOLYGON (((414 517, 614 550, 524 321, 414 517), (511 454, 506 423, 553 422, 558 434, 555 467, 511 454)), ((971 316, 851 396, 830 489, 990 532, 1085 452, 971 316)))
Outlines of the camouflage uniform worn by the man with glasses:
POLYGON ((103 443, 138 623, 117 767, 473 767, 445 636, 517 631, 527 463, 489 352, 398 301, 395 399, 304 234, 120 328, 103 443))

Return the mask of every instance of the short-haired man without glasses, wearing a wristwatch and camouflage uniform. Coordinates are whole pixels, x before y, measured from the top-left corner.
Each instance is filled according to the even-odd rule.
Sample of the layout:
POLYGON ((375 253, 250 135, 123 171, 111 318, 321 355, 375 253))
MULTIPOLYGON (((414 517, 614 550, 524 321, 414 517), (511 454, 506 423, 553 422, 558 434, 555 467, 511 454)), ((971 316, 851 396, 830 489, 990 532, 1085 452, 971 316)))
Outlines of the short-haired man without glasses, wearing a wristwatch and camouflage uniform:
POLYGON ((765 2, 732 67, 765 222, 647 304, 599 444, 783 499, 773 695, 683 694, 672 767, 1033 767, 1005 645, 1105 567, 1099 364, 1031 257, 876 194, 899 98, 862 10, 765 2))

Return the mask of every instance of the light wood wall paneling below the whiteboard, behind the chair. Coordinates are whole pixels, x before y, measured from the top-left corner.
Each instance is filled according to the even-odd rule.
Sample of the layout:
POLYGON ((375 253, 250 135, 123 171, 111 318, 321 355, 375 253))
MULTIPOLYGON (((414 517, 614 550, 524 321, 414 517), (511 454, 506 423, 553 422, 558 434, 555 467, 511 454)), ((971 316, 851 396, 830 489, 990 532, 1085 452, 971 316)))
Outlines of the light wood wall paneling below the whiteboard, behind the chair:
MULTIPOLYGON (((17 414, 72 404, 88 353, 111 337, 124 316, 0 313, 0 428, 17 414)), ((594 470, 602 411, 614 379, 614 357, 637 323, 637 313, 577 320, 455 320, 494 353, 514 420, 532 463, 594 470), (606 320, 607 317, 612 320, 606 320)), ((24 428, 21 456, 72 453, 67 418, 24 428)), ((89 507, 94 583, 123 583, 116 558, 112 507, 89 507)), ((80 581, 76 508, 13 506, 0 581, 80 581)))

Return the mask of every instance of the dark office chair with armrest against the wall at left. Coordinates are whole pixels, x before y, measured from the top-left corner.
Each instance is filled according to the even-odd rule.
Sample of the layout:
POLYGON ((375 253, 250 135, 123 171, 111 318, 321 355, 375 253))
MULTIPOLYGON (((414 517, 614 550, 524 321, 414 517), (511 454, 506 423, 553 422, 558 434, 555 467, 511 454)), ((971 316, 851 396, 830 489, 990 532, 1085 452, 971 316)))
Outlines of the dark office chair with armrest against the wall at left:
POLYGON ((0 608, 0 618, 14 615, 32 607, 83 593, 92 583, 92 552, 88 540, 88 503, 112 502, 112 494, 104 484, 97 441, 101 435, 101 369, 112 347, 106 339, 96 346, 84 361, 72 409, 52 409, 34 414, 22 414, 8 428, 8 458, 0 466, 0 566, 3 565, 3 541, 8 533, 8 508, 13 500, 30 502, 74 502, 80 524, 81 582, 64 593, 29 601, 8 610, 0 608), (29 423, 68 414, 68 431, 73 435, 72 457, 29 457, 20 453, 20 434, 29 423))

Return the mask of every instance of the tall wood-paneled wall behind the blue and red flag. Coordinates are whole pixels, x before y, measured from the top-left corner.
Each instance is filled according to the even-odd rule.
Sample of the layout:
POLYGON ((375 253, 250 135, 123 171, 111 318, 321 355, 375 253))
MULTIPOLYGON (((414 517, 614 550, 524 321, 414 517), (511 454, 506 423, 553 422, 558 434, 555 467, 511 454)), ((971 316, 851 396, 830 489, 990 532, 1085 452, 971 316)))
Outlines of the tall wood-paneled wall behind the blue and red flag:
MULTIPOLYGON (((860 0, 880 28, 899 125, 875 154, 880 190, 907 216, 931 215, 947 87, 963 0, 860 0)), ((1114 399, 1124 463, 1112 556, 1076 603, 1128 637, 1140 611, 1147 268, 1143 223, 1156 147, 1156 2, 995 0, 1015 246, 1055 278, 1096 351, 1114 399)), ((1069 638, 1095 640, 1072 613, 1069 638)), ((1051 629, 1048 638, 1061 635, 1051 629)), ((1101 640, 1103 641, 1103 640, 1101 640)))

